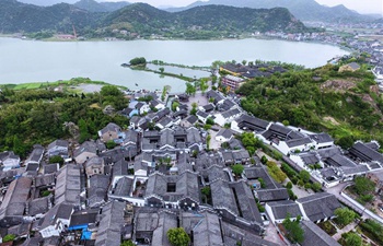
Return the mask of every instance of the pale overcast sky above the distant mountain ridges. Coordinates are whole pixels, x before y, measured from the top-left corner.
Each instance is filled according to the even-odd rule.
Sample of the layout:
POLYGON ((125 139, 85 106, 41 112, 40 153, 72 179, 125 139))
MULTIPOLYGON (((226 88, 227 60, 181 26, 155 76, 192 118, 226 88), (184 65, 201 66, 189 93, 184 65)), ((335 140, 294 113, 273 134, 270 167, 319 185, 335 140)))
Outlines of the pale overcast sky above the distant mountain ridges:
MULTIPOLYGON (((120 1, 120 0, 107 0, 120 1)), ((129 0, 127 0, 129 1, 129 0)), ((195 2, 196 0, 130 0, 129 2, 147 2, 154 7, 173 5, 184 7, 195 2)), ((345 4, 351 10, 360 13, 383 13, 383 0, 316 0, 321 4, 337 5, 345 4)))

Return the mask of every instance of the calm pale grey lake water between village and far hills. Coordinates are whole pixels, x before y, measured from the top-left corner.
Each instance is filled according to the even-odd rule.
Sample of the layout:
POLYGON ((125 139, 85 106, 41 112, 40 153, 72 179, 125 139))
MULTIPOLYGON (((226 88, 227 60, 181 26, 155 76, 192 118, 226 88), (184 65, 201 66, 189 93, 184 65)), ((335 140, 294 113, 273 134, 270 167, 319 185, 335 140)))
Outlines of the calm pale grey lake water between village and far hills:
MULTIPOLYGON (((130 89, 185 90, 185 82, 120 67, 135 57, 170 63, 210 66, 214 60, 275 60, 314 68, 348 54, 323 44, 285 40, 35 42, 0 38, 0 84, 68 80, 76 77, 130 89), (135 84, 139 86, 136 86, 135 84)), ((169 71, 169 70, 167 70, 169 71)), ((181 71, 186 74, 186 71, 181 71)), ((187 71, 187 75, 200 72, 187 71)))

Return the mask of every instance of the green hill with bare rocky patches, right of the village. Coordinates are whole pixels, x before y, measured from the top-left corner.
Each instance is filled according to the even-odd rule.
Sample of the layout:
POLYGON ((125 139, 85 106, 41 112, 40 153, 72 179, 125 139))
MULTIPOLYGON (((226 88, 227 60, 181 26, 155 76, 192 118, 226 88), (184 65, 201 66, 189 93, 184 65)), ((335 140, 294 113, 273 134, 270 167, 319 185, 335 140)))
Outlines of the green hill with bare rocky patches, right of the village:
POLYGON ((367 70, 338 66, 255 79, 240 87, 242 106, 255 116, 313 131, 327 131, 347 148, 357 139, 383 143, 383 99, 367 70))

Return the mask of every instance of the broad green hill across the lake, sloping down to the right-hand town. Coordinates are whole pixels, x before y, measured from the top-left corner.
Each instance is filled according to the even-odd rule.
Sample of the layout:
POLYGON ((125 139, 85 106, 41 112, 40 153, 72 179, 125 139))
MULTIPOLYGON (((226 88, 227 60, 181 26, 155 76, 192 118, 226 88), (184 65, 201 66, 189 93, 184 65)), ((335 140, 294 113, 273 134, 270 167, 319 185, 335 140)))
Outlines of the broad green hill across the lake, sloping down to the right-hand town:
POLYGON ((225 5, 197 7, 170 13, 149 4, 136 3, 115 11, 103 21, 104 26, 129 23, 128 31, 141 36, 201 38, 253 32, 304 32, 306 27, 287 9, 255 10, 225 5))

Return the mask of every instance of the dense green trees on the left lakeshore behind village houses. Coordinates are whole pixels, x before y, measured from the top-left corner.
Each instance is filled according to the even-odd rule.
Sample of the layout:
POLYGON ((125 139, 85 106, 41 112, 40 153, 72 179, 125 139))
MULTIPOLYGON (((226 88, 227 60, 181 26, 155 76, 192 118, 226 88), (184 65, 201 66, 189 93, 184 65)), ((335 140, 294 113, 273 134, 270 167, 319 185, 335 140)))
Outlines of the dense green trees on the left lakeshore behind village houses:
MULTIPOLYGON (((82 81, 76 80, 78 83, 82 81)), ((90 83, 88 80, 84 82, 90 83)), ((79 138, 82 142, 96 138, 97 131, 108 122, 129 125, 126 117, 106 115, 102 110, 107 105, 115 110, 127 105, 127 99, 116 86, 105 85, 100 93, 86 95, 57 92, 54 91, 56 86, 22 91, 1 87, 0 152, 13 150, 25 156, 36 143, 46 145, 60 138, 79 138), (74 127, 66 127, 68 122, 74 124, 74 127), (73 129, 80 129, 81 134, 71 134, 73 129)))

